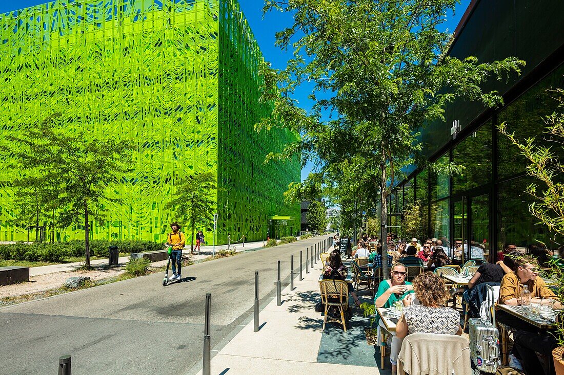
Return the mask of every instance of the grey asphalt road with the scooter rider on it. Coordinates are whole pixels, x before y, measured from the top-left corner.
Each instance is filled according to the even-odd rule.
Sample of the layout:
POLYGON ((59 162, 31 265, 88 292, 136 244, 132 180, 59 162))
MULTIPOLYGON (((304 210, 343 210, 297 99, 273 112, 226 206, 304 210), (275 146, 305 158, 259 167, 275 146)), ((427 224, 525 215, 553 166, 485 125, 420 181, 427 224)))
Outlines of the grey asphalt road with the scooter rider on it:
POLYGON ((190 266, 189 281, 167 287, 158 273, 0 309, 0 374, 54 375, 68 354, 72 375, 183 375, 202 358, 205 293, 213 348, 252 312, 254 271, 266 303, 277 261, 288 281, 290 255, 297 270, 299 251, 320 239, 190 266))

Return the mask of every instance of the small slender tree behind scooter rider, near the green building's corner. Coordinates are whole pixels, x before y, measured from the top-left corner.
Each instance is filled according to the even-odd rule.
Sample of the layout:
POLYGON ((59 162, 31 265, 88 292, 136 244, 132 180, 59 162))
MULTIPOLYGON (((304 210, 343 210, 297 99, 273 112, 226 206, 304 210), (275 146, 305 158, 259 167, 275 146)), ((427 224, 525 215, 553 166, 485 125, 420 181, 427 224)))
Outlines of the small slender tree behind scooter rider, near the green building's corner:
POLYGON ((173 209, 181 225, 189 225, 192 230, 190 252, 194 252, 194 233, 196 226, 208 226, 213 221, 217 209, 215 194, 217 178, 211 172, 188 176, 178 185, 176 198, 165 204, 165 209, 173 209))

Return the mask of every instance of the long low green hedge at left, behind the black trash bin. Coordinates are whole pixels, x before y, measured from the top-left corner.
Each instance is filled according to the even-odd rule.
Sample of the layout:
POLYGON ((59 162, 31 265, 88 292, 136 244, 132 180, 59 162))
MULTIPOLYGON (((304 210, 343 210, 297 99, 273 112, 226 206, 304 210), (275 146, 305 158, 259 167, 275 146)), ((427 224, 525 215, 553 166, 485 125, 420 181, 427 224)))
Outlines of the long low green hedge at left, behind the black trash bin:
MULTIPOLYGON (((108 241, 91 240, 90 255, 108 257, 111 245, 116 245, 120 253, 140 253, 144 251, 157 251, 163 248, 162 243, 141 240, 108 241)), ((25 244, 0 245, 0 260, 25 260, 30 262, 63 262, 66 257, 84 257, 85 244, 83 240, 70 240, 68 242, 43 242, 25 244)))

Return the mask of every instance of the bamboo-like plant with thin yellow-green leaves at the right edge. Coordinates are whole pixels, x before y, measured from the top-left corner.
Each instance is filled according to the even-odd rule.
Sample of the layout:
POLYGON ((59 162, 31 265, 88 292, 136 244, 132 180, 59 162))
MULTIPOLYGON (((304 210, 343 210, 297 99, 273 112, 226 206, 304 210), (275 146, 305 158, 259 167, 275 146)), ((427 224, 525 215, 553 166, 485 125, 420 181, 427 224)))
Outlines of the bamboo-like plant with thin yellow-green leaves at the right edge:
MULTIPOLYGON (((547 115, 544 119, 547 127, 541 142, 535 137, 526 140, 518 140, 515 133, 509 133, 505 123, 499 124, 499 131, 508 137, 519 149, 519 153, 528 160, 527 174, 540 182, 527 186, 526 192, 534 198, 529 204, 529 212, 537 219, 539 224, 544 224, 556 234, 564 236, 564 184, 561 176, 564 173, 564 163, 559 158, 564 155, 564 90, 550 90, 554 99, 558 102, 557 110, 547 115)), ((564 246, 559 248, 559 259, 549 261, 547 276, 556 283, 555 293, 558 300, 564 303, 564 246)), ((559 347, 553 354, 556 373, 564 375, 564 314, 559 314, 556 320, 556 331, 554 336, 559 347)))

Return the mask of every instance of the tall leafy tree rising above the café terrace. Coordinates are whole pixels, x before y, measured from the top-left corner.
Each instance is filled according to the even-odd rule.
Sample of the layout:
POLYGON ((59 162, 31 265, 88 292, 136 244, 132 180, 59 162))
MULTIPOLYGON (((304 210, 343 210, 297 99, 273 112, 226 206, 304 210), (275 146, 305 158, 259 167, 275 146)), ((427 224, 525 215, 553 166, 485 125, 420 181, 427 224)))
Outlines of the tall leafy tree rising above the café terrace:
POLYGON ((456 3, 267 0, 263 8, 294 14, 293 25, 276 34, 277 46, 293 47, 294 57, 281 71, 262 65, 262 100, 275 106, 257 128, 287 127, 302 135, 267 160, 299 154, 302 163, 319 166, 327 183, 360 164, 356 191, 379 195, 381 238, 387 232, 386 198, 402 168, 422 149, 421 127, 444 120, 445 106, 457 97, 488 107, 503 103, 497 92, 483 92, 481 86, 520 73, 525 64, 514 57, 478 63, 472 56, 448 56, 452 34, 440 32, 439 25, 456 3), (292 98, 303 83, 313 86, 309 113, 292 98), (330 118, 322 122, 325 113, 330 118))

